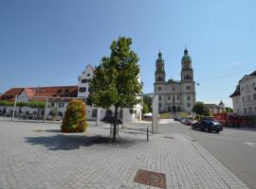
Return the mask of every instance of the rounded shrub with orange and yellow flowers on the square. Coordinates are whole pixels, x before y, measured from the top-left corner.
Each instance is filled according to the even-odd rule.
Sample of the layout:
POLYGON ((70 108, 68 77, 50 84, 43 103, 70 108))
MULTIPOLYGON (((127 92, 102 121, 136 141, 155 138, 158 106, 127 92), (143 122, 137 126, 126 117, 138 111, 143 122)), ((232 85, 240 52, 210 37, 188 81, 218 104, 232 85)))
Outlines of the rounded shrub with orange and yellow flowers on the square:
POLYGON ((85 103, 82 100, 72 100, 64 112, 63 132, 83 132, 87 128, 85 103))

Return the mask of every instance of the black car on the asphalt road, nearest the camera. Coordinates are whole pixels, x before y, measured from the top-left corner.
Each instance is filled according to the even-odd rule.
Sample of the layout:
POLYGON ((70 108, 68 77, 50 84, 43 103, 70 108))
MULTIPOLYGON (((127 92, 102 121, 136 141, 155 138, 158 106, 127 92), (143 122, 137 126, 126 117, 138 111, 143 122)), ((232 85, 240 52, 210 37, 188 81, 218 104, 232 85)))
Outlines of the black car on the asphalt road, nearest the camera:
POLYGON ((206 132, 214 131, 216 133, 219 133, 221 130, 223 130, 223 127, 217 121, 203 120, 192 124, 192 129, 200 129, 206 132))

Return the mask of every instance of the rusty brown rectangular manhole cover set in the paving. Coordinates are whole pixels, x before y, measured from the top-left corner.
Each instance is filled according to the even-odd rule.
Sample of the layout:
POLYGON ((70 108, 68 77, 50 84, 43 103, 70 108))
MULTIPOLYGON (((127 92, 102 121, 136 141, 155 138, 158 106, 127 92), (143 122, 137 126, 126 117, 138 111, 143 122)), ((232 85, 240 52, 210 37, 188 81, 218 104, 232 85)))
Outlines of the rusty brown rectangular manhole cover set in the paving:
POLYGON ((166 177, 162 173, 138 169, 135 181, 150 186, 166 188, 166 177))

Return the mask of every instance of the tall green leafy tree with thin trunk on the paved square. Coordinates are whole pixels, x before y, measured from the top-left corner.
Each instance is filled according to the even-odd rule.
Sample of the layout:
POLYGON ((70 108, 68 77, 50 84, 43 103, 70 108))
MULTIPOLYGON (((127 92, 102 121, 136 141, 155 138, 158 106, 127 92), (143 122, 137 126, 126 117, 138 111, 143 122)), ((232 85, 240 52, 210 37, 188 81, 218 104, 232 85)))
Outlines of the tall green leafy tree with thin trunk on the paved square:
MULTIPOLYGON (((94 70, 94 77, 89 81, 90 94, 88 104, 108 109, 115 107, 115 119, 119 108, 132 108, 140 101, 141 93, 138 81, 139 66, 137 54, 131 50, 132 39, 119 37, 110 45, 111 54, 103 57, 94 70)), ((114 123, 113 143, 116 142, 117 122, 114 123)))

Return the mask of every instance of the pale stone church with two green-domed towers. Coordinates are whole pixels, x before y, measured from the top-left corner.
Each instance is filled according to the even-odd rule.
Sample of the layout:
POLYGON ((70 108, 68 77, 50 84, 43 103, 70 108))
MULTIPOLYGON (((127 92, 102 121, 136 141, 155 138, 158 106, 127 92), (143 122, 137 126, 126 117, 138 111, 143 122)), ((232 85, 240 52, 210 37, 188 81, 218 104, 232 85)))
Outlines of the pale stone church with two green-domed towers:
POLYGON ((155 60, 154 92, 159 97, 159 112, 192 112, 195 104, 195 82, 192 59, 187 47, 181 59, 180 80, 165 77, 164 60, 161 52, 155 60))

